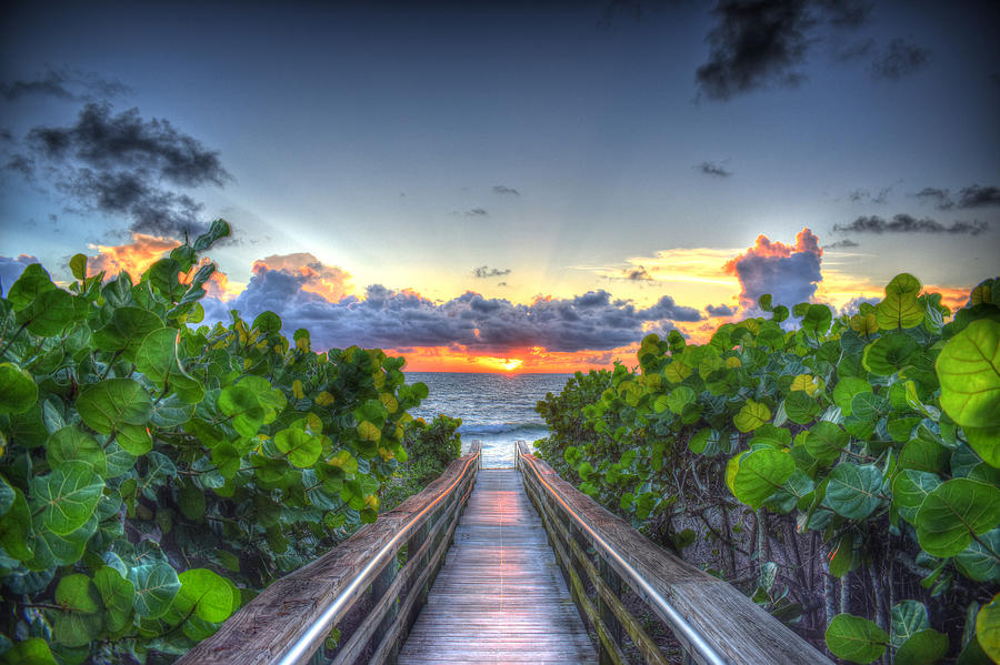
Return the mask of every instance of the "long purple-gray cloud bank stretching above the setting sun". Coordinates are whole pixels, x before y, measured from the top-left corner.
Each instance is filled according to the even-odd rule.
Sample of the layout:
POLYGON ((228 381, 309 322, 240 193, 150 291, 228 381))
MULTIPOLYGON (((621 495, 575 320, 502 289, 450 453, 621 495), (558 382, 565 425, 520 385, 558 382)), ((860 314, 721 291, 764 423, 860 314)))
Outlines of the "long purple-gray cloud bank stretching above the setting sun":
POLYGON ((501 355, 531 346, 561 352, 616 349, 637 343, 649 324, 701 319, 698 310, 678 305, 669 295, 647 309, 613 300, 603 290, 574 298, 538 298, 531 304, 470 291, 442 303, 373 284, 364 299, 348 296, 333 303, 304 291, 304 284, 306 276, 296 271, 262 270, 234 300, 204 299, 203 304, 207 316, 216 320, 228 318, 230 309, 240 310, 248 320, 271 310, 287 330, 313 331, 313 344, 320 349, 463 346, 501 355))

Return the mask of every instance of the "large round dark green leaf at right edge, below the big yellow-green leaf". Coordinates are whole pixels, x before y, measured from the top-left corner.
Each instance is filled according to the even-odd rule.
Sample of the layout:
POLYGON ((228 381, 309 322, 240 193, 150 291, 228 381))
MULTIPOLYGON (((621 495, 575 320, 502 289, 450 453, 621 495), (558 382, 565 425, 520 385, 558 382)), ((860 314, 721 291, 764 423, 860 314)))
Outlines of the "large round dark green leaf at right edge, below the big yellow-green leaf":
POLYGON ((1000 490, 952 478, 927 495, 916 523, 920 546, 928 554, 954 556, 969 546, 972 534, 983 534, 1000 523, 1000 490))

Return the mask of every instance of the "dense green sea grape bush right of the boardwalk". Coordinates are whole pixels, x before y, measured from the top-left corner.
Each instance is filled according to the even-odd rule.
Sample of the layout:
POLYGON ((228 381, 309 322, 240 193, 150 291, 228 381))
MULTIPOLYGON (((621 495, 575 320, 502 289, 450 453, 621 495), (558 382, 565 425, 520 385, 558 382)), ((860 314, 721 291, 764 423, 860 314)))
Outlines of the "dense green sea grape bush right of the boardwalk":
POLYGON ((637 370, 539 402, 538 446, 661 543, 717 543, 730 578, 756 571, 737 582, 841 658, 998 662, 1000 280, 948 323, 940 301, 901 274, 852 316, 766 295, 769 318, 707 344, 651 334, 637 370))

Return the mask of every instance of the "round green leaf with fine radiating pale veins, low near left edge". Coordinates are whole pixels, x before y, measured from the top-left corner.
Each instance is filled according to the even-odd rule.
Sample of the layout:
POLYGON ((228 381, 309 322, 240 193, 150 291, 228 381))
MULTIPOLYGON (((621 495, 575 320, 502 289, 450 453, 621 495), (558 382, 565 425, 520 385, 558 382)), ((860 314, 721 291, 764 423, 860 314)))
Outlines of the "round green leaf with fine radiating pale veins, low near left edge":
POLYGON ((70 460, 31 478, 31 504, 44 528, 68 535, 90 520, 103 490, 104 481, 90 464, 70 460))

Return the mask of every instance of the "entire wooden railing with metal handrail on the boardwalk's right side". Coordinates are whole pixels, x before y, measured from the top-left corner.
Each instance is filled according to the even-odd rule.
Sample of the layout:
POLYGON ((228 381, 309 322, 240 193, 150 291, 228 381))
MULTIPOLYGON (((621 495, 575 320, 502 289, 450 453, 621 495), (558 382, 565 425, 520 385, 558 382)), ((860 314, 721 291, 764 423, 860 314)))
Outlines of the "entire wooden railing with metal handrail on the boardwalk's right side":
POLYGON ((600 641, 601 664, 669 661, 622 602, 632 590, 673 633, 684 663, 832 665, 808 642, 730 584, 654 545, 563 481, 523 441, 517 460, 581 614, 600 641), (594 598, 588 595, 588 584, 594 598), (626 648, 623 635, 632 647, 626 648))

